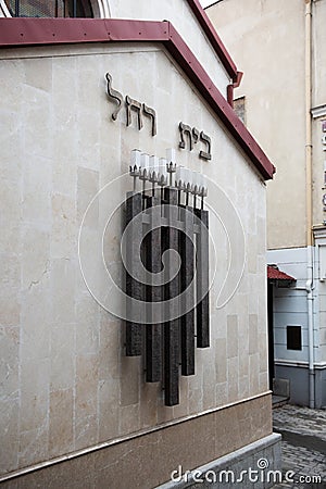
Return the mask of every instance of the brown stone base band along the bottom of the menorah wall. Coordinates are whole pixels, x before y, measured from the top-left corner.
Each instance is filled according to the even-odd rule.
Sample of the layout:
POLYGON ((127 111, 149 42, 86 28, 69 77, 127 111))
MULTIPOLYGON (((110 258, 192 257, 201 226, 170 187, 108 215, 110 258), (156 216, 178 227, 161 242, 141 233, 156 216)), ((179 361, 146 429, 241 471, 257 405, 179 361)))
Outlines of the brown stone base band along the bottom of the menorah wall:
POLYGON ((3 475, 0 487, 152 489, 171 480, 171 474, 179 466, 184 471, 202 467, 214 459, 225 460, 226 454, 235 466, 243 459, 243 464, 246 460, 247 466, 255 468, 258 459, 265 456, 265 448, 268 460, 277 459, 275 454, 272 459, 273 450, 262 441, 269 440, 272 434, 271 398, 269 391, 264 392, 148 432, 90 447, 83 453, 46 461, 3 475), (234 453, 239 454, 237 459, 234 453))

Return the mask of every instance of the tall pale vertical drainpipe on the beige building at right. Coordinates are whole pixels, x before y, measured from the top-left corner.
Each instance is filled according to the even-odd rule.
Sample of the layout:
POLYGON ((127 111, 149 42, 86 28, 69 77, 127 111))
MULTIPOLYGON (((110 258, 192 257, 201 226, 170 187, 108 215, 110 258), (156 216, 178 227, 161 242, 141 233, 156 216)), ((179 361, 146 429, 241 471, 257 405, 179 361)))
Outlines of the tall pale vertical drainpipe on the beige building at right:
POLYGON ((312 0, 305 0, 305 192, 306 192, 306 253, 308 253, 308 337, 309 337, 309 406, 315 406, 314 322, 313 322, 313 196, 312 196, 312 0))

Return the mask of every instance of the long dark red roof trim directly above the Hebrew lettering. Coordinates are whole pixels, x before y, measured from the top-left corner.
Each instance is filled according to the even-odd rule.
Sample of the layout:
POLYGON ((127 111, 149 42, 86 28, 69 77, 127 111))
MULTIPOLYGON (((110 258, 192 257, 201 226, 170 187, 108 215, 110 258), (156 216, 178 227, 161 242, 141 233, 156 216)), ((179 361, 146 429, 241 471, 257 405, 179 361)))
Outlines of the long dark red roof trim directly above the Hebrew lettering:
POLYGON ((0 48, 75 42, 163 42, 265 179, 275 168, 200 62, 167 22, 101 18, 0 18, 0 48))

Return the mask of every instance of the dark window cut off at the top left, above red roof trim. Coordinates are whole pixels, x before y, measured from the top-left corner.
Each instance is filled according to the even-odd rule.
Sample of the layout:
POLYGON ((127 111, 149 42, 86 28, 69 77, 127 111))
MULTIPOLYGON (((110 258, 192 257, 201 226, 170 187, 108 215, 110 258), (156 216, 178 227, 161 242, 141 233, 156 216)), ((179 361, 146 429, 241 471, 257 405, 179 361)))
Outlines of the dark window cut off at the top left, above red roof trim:
POLYGON ((92 17, 89 0, 5 0, 13 17, 92 17))

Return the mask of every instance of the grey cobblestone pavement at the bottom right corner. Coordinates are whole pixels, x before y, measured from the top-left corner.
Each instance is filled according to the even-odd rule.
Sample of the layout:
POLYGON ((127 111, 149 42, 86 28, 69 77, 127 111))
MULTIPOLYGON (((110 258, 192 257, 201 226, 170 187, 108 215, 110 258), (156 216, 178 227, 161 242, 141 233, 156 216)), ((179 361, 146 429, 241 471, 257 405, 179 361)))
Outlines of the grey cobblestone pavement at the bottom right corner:
POLYGON ((283 475, 290 478, 274 489, 326 489, 326 410, 286 404, 273 410, 273 419, 283 436, 283 475))

